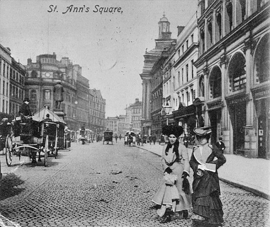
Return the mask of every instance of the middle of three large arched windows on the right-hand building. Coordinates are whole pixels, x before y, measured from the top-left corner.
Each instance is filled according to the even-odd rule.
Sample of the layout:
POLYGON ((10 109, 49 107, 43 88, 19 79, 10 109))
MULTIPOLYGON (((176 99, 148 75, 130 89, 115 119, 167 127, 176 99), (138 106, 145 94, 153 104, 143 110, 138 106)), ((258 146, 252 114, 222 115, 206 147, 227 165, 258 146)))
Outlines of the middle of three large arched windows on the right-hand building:
POLYGON ((229 91, 237 91, 245 88, 245 58, 243 54, 236 53, 229 63, 229 91))

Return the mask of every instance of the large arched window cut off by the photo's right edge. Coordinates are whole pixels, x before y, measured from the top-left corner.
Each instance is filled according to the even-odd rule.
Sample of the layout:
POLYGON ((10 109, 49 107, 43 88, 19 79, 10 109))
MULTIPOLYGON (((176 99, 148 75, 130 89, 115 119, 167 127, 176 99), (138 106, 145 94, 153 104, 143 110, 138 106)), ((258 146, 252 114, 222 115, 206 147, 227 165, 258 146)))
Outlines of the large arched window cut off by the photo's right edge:
POLYGON ((269 33, 258 44, 255 53, 255 83, 269 81, 269 33))

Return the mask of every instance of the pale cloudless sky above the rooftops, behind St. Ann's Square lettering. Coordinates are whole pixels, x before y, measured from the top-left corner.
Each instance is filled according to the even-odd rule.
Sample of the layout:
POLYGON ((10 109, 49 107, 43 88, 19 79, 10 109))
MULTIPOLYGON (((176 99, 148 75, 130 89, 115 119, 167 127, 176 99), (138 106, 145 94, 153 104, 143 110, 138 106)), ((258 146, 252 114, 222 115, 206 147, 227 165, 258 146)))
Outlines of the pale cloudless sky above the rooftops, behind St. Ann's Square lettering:
POLYGON ((196 13, 197 0, 0 0, 0 43, 27 65, 53 54, 82 67, 106 99, 106 117, 142 99, 144 53, 155 48, 165 14, 172 38, 196 13), (81 12, 74 12, 81 7, 81 12), (113 7, 115 12, 105 12, 113 7), (117 7, 117 8, 116 8, 117 7))

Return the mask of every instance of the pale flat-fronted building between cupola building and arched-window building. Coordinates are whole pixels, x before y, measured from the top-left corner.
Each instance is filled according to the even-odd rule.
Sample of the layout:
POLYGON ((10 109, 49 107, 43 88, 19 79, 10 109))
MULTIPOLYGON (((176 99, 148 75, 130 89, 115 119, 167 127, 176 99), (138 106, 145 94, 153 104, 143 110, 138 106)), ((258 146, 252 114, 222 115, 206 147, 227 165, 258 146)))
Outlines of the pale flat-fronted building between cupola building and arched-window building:
MULTIPOLYGON (((184 133, 190 136, 193 128, 199 126, 203 100, 198 98, 197 71, 194 62, 198 59, 198 27, 195 13, 189 23, 178 32, 175 51, 170 56, 172 76, 169 78, 170 99, 172 107, 169 118, 174 123, 183 126, 184 133)), ((166 63, 166 64, 168 64, 166 63)), ((164 67, 165 68, 165 67, 164 67)), ((163 86, 168 79, 163 76, 163 86)), ((164 89, 163 89, 164 90, 164 89)))

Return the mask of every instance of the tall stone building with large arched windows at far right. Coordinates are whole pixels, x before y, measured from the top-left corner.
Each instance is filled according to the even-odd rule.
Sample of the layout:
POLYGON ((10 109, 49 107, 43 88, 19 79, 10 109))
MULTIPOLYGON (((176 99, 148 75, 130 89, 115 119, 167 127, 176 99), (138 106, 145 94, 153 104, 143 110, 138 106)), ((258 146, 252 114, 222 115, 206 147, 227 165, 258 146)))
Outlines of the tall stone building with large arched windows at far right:
POLYGON ((269 159, 269 0, 199 0, 199 96, 225 152, 269 159))

